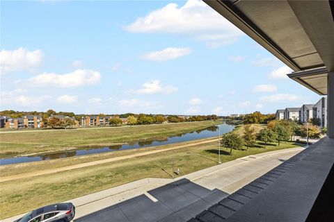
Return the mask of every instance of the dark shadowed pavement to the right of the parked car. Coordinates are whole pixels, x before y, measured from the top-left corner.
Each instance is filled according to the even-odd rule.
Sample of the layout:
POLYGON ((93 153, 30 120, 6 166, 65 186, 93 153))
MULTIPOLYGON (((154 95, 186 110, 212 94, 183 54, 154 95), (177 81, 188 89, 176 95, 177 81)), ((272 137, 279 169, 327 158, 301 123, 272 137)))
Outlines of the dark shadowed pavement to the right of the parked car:
POLYGON ((74 221, 188 221, 221 198, 228 196, 223 191, 209 190, 187 179, 152 189, 148 194, 157 201, 143 194, 74 221))

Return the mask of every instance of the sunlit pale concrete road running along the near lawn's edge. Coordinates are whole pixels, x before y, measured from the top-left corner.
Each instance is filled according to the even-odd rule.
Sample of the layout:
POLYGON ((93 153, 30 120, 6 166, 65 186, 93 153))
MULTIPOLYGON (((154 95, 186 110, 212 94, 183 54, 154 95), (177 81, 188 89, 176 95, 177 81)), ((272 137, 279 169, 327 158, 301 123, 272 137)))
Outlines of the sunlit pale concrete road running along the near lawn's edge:
MULTIPOLYGON (((215 195, 216 192, 228 195, 248 184, 248 182, 254 180, 255 178, 258 178, 264 173, 267 173, 267 171, 273 169, 274 167, 277 167, 280 163, 288 160, 290 157, 296 155, 296 153, 299 153, 300 151, 303 151, 303 148, 289 148, 280 151, 271 151, 267 153, 260 153, 257 155, 250 155, 247 157, 239 158, 237 160, 232 160, 230 162, 225 162, 214 167, 209 167, 207 169, 196 171, 186 176, 181 176, 180 178, 177 178, 175 180, 162 178, 145 178, 142 180, 130 182, 125 185, 120 185, 118 187, 113 187, 111 189, 99 191, 94 194, 89 194, 72 200, 67 200, 65 202, 72 202, 76 206, 77 214, 75 218, 78 219, 82 216, 92 214, 93 212, 106 209, 106 207, 111 207, 122 202, 128 203, 129 201, 137 201, 136 203, 142 203, 141 201, 143 201, 143 206, 150 207, 149 203, 152 204, 159 201, 161 202, 161 204, 164 204, 167 207, 169 204, 168 209, 170 210, 170 212, 168 215, 158 214, 158 216, 161 217, 161 215, 164 215, 167 217, 174 215, 180 217, 180 221, 186 221, 187 219, 190 219, 191 216, 195 216, 202 210, 205 210, 203 209, 203 207, 209 207, 210 205, 212 205, 212 203, 215 203, 214 198, 222 198, 221 195, 215 195), (164 199, 164 197, 163 201, 161 200, 161 197, 159 197, 159 195, 154 196, 156 194, 160 194, 159 190, 163 189, 162 187, 166 187, 166 185, 168 184, 182 184, 184 183, 184 180, 186 180, 186 182, 191 182, 191 187, 197 187, 197 192, 204 191, 206 196, 203 196, 202 194, 197 194, 196 189, 191 189, 188 196, 191 196, 191 200, 193 201, 186 201, 186 203, 182 205, 177 205, 177 208, 175 209, 170 209, 170 206, 177 202, 177 199, 175 199, 177 196, 173 197, 173 195, 170 196, 170 194, 175 194, 175 189, 179 190, 177 192, 180 193, 180 187, 167 186, 169 190, 168 196, 170 196, 170 199, 164 199), (197 196, 197 198, 194 198, 193 196, 197 196), (210 199, 209 196, 213 199, 210 199), (205 204, 198 205, 196 209, 192 209, 190 213, 188 211, 188 214, 177 214, 177 212, 187 209, 187 207, 189 207, 196 201, 202 201, 202 198, 204 198, 205 204), (208 198, 208 200, 206 201, 205 198, 208 198)), ((187 192, 187 190, 185 192, 187 192)), ((186 200, 186 197, 184 196, 182 199, 180 199, 180 201, 182 200, 186 200)), ((128 206, 131 205, 128 204, 128 206)), ((149 208, 146 207, 144 207, 143 210, 149 210, 149 208)), ((122 209, 123 208, 124 205, 122 206, 122 209)), ((146 216, 152 219, 148 221, 159 221, 158 218, 154 219, 154 211, 151 213, 151 215, 150 212, 145 212, 143 210, 141 212, 145 215, 147 214, 146 216)), ((122 212, 122 214, 125 213, 122 212)), ((133 214, 133 210, 129 210, 128 214, 133 214)), ((22 215, 3 219, 1 220, 1 222, 12 222, 15 221, 15 219, 21 217, 22 215)), ((136 217, 134 217, 134 219, 132 220, 129 220, 129 216, 131 217, 131 215, 125 215, 128 221, 136 221, 136 217)))

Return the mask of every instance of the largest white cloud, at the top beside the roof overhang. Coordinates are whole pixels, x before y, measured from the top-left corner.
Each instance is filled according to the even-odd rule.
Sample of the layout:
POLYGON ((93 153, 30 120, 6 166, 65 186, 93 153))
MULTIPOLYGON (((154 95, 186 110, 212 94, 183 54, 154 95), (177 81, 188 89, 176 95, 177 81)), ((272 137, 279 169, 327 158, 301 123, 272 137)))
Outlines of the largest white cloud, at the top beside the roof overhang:
POLYGON ((134 33, 170 33, 205 41, 209 46, 236 42, 244 35, 227 19, 200 0, 188 0, 184 6, 168 3, 163 8, 139 17, 124 27, 134 33))

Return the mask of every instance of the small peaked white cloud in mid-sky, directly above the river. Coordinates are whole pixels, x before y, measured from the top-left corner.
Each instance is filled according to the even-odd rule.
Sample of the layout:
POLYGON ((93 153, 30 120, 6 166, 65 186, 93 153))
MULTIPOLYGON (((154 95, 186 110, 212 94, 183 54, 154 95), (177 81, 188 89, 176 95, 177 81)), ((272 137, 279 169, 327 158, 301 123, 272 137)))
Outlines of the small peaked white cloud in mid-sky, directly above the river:
POLYGON ((143 89, 137 90, 138 94, 171 94, 177 92, 177 87, 161 85, 160 80, 152 80, 143 84, 143 89))

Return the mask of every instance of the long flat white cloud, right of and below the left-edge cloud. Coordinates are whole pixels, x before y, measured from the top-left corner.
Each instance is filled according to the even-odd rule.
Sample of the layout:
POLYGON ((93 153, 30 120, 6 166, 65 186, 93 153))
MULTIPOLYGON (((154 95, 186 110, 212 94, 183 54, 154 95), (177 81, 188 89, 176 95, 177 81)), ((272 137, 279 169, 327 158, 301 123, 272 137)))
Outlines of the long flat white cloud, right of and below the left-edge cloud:
POLYGON ((40 87, 78 87, 100 83, 98 71, 77 69, 68 74, 43 73, 29 78, 29 83, 40 87))

